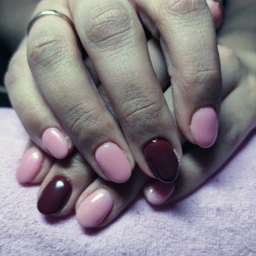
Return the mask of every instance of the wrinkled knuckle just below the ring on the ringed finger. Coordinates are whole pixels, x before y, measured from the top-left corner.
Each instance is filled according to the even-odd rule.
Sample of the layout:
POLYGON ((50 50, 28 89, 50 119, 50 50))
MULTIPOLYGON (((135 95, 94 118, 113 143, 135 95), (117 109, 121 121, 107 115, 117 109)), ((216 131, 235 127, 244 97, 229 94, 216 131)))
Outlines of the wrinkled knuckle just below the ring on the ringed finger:
POLYGON ((28 63, 32 67, 48 68, 66 59, 68 53, 69 43, 64 32, 58 29, 42 31, 29 40, 28 63))

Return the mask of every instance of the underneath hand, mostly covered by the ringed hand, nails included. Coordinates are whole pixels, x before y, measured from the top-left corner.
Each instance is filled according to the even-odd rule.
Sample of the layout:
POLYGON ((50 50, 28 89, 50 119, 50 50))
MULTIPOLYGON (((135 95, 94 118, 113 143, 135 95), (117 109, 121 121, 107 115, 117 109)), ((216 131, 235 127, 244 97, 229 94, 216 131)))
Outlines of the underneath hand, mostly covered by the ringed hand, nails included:
MULTIPOLYGON (((148 47, 158 79, 161 81, 161 84, 164 84, 168 81, 168 78, 166 79, 165 72, 161 72, 163 70, 166 71, 166 69, 163 69, 164 57, 161 50, 157 47, 157 42, 154 40, 148 42, 148 47)), ((211 149, 201 150, 199 147, 190 144, 185 151, 180 177, 178 177, 175 184, 176 190, 174 190, 173 183, 167 184, 161 182, 161 187, 159 187, 159 182, 151 179, 144 187, 146 199, 150 203, 161 204, 164 203, 164 201, 168 202, 166 199, 168 199, 173 191, 174 193, 168 199, 169 201, 177 200, 193 191, 228 159, 241 140, 243 140, 246 134, 255 125, 255 111, 248 111, 249 115, 247 119, 244 120, 242 129, 238 126, 238 124, 240 124, 238 119, 244 117, 244 108, 254 107, 251 102, 256 99, 256 93, 251 94, 249 100, 243 101, 241 99, 245 98, 244 94, 248 94, 244 86, 246 86, 246 88, 255 86, 256 79, 242 72, 238 59, 231 50, 219 46, 219 53, 222 64, 224 90, 222 100, 223 111, 216 145, 211 149), (238 81, 244 82, 237 84, 238 81), (239 87, 236 87, 237 85, 239 87), (239 90, 237 92, 236 90, 238 88, 241 88, 241 91, 239 90), (233 101, 234 95, 237 97, 235 102, 233 101), (227 99, 230 100, 227 101, 227 99), (237 102, 240 102, 239 109, 242 112, 233 111, 234 104, 237 105, 237 102), (231 133, 230 136, 227 136, 226 132, 229 130, 231 133), (198 150, 199 154, 197 154, 198 150), (209 150, 211 150, 211 153, 208 154, 209 150), (205 161, 205 159, 207 161, 205 161), (199 169, 198 166, 201 167, 201 169, 199 169)), ((100 86, 99 91, 103 92, 101 95, 108 105, 109 101, 102 89, 103 87, 100 86)), ((174 114, 172 91, 170 88, 166 90, 164 95, 170 111, 174 114)), ((180 133, 179 138, 183 144, 185 140, 180 133)), ((31 148, 31 145, 29 145, 29 148, 31 148)), ((148 176, 143 174, 143 172, 136 167, 128 182, 114 184, 101 177, 96 177, 93 170, 78 152, 72 153, 64 160, 56 160, 54 164, 53 159, 43 154, 42 151, 40 152, 39 148, 37 148, 37 153, 39 155, 42 154, 42 158, 44 159, 42 168, 38 170, 39 174, 37 174, 37 177, 34 179, 34 182, 40 182, 44 179, 39 191, 39 210, 45 214, 63 216, 69 214, 75 207, 78 222, 85 227, 100 227, 111 222, 119 215, 122 209, 135 198, 149 179, 148 176), (55 187, 54 185, 60 182, 64 184, 61 196, 59 196, 59 187, 58 193, 53 189, 55 187), (52 200, 45 201, 45 198, 51 198, 52 200), (97 203, 91 203, 93 198, 97 203)), ((29 166, 32 171, 36 169, 33 168, 34 166, 29 166)), ((24 170, 26 170, 26 174, 29 173, 28 167, 24 168, 24 170)))

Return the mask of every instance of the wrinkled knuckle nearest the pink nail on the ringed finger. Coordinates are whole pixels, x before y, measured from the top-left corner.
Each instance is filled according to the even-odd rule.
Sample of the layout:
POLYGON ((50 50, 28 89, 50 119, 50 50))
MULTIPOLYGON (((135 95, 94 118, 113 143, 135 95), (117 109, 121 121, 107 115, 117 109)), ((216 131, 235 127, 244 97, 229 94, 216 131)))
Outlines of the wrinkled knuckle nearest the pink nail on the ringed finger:
POLYGON ((103 120, 103 114, 90 106, 88 102, 77 103, 64 116, 66 129, 73 135, 91 135, 97 134, 100 122, 103 120))

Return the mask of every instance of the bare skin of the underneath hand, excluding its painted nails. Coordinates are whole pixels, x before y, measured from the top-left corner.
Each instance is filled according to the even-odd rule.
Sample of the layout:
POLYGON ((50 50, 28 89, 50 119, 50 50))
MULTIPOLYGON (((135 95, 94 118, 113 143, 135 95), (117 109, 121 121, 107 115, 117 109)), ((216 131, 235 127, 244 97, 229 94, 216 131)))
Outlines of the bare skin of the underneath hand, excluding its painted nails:
MULTIPOLYGON (((180 174, 175 182, 176 189, 164 203, 177 201, 201 185, 219 169, 248 132, 255 127, 256 109, 253 102, 256 100, 256 91, 254 90, 256 78, 251 74, 246 74, 245 71, 241 71, 240 63, 230 49, 219 47, 219 52, 222 60, 222 73, 227 75, 223 77, 222 115, 218 139, 211 149, 201 150, 198 147, 195 148, 192 144, 187 145, 180 174), (233 66, 230 65, 230 60, 235 63, 233 66), (241 77, 237 75, 239 73, 241 77), (247 100, 243 100, 248 94, 250 94, 250 97, 248 98, 247 96, 247 100), (234 108, 240 109, 240 111, 233 111, 234 108), (245 112, 248 112, 248 115, 245 116, 245 112), (206 158, 206 156, 208 157, 206 158)), ((166 101, 169 103, 170 110, 173 113, 172 97, 168 96, 168 92, 171 91, 167 90, 165 92, 165 95, 167 95, 166 101)), ((180 138, 181 142, 184 142, 181 136, 180 138)), ((107 189, 111 193, 114 200, 113 208, 98 227, 104 226, 116 218, 148 181, 148 177, 139 168, 135 168, 128 182, 124 184, 108 182, 96 177, 79 153, 73 153, 65 160, 55 161, 40 187, 39 195, 48 182, 58 174, 69 177, 73 184, 73 193, 64 208, 57 214, 53 214, 55 216, 66 215, 74 207, 77 209, 79 204, 97 189, 107 189)), ((146 187, 147 185, 145 189, 146 187)))

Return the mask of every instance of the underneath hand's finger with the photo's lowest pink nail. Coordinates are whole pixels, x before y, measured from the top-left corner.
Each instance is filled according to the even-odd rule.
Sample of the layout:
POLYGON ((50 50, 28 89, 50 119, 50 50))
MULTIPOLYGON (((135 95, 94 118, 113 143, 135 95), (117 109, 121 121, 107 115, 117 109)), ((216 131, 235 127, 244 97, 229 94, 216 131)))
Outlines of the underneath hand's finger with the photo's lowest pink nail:
POLYGON ((98 177, 77 200, 78 223, 83 227, 107 225, 135 198, 148 179, 138 167, 123 184, 113 184, 98 177))

